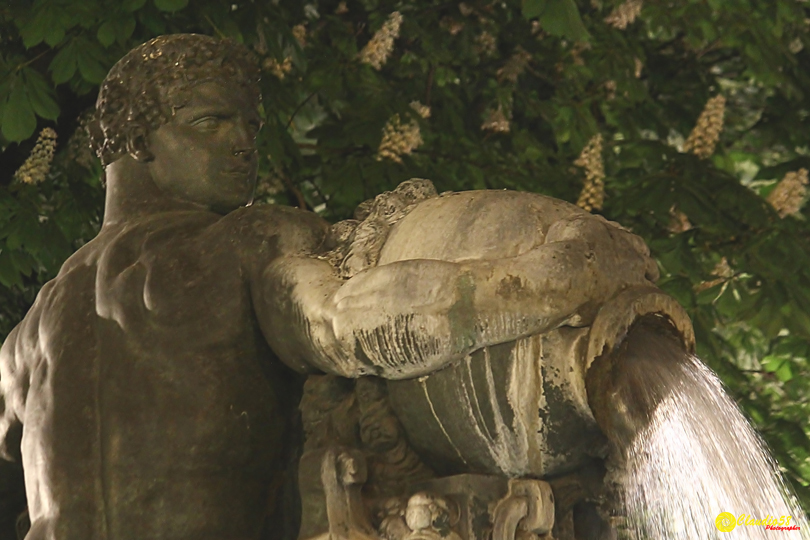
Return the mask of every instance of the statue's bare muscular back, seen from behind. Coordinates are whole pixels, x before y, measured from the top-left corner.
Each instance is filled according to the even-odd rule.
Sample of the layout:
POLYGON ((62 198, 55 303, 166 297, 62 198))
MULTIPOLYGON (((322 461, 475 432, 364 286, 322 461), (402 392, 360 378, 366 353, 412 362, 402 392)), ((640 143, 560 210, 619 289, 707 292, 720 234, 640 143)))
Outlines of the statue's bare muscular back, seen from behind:
POLYGON ((255 537, 289 389, 249 267, 318 233, 280 240, 297 227, 280 212, 275 224, 244 210, 104 230, 43 290, 22 444, 35 529, 56 518, 40 526, 60 540, 255 537))

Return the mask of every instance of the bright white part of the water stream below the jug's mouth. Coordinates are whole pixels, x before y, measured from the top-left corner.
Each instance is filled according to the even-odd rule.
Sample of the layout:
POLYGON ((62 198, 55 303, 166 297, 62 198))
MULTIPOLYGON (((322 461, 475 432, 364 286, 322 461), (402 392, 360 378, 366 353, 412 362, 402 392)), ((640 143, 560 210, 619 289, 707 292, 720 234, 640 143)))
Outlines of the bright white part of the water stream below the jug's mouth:
POLYGON ((674 367, 677 386, 627 451, 625 504, 636 537, 810 538, 804 512, 714 373, 688 356, 674 367), (728 531, 718 528, 723 512, 731 517, 719 527, 728 531), (761 520, 800 529, 768 530, 761 520))

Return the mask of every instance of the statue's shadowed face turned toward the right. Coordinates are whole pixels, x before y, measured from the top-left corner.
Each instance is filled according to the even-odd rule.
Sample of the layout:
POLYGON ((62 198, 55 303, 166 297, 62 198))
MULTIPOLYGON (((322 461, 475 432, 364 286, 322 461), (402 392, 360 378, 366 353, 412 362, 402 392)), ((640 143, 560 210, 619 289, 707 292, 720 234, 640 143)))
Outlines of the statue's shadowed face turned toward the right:
POLYGON ((247 92, 203 82, 149 135, 155 184, 174 198, 225 214, 253 200, 260 120, 247 92))

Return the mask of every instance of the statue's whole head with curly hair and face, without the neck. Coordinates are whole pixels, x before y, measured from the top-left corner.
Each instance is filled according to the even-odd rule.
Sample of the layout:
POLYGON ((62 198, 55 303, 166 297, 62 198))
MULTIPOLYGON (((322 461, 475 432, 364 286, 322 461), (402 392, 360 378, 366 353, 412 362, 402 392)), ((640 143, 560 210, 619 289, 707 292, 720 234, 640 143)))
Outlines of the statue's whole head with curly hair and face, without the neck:
POLYGON ((157 37, 102 83, 93 146, 105 167, 129 155, 164 192, 231 210, 255 186, 258 80, 255 57, 238 43, 157 37))

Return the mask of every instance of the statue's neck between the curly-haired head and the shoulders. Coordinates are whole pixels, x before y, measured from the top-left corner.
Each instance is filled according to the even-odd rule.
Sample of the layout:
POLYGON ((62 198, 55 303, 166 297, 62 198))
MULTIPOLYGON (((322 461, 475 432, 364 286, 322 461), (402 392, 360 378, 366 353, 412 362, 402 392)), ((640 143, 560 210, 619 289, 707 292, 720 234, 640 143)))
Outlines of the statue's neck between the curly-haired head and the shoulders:
POLYGON ((204 210, 163 193, 152 181, 149 165, 124 156, 107 165, 103 227, 163 212, 204 210))

